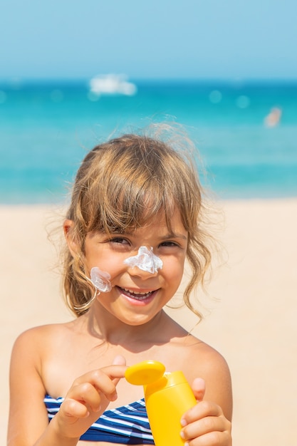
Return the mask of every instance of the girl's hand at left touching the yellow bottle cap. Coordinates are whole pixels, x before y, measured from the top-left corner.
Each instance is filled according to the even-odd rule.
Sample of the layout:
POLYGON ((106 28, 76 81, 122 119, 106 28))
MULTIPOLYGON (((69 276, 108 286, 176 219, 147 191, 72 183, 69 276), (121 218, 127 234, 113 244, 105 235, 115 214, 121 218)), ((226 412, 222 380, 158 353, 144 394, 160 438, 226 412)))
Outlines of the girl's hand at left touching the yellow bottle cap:
POLYGON ((102 415, 110 401, 118 398, 116 385, 120 378, 124 378, 125 370, 125 358, 117 356, 113 365, 77 378, 51 421, 51 424, 56 423, 58 435, 65 438, 83 435, 102 415))

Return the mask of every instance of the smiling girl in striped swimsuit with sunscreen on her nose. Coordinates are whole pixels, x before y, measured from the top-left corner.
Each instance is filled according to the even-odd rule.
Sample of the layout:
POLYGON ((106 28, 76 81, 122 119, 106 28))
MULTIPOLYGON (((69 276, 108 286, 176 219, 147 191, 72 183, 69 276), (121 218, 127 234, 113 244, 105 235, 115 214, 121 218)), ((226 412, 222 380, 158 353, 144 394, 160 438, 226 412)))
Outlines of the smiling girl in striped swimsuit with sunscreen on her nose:
POLYGON ((209 266, 203 209, 197 169, 173 143, 124 135, 86 155, 63 224, 63 289, 76 317, 16 340, 9 446, 153 445, 142 386, 122 379, 126 363, 145 360, 192 383, 186 445, 231 445, 224 358, 163 310, 186 259, 189 308, 209 266))

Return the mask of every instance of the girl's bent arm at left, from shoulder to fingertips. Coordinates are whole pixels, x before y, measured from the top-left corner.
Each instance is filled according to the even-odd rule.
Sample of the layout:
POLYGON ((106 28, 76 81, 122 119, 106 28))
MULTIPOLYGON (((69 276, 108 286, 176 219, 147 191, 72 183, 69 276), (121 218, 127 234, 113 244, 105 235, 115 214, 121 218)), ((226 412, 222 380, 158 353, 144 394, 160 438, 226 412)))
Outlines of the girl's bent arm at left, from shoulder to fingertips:
MULTIPOLYGON (((11 354, 8 446, 75 446, 80 435, 97 420, 125 374, 125 365, 86 373, 75 380, 61 409, 48 424, 43 403, 41 357, 44 349, 38 328, 23 333, 11 354), (39 335, 39 336, 38 336, 39 335)), ((123 364, 123 362, 122 362, 123 364)))

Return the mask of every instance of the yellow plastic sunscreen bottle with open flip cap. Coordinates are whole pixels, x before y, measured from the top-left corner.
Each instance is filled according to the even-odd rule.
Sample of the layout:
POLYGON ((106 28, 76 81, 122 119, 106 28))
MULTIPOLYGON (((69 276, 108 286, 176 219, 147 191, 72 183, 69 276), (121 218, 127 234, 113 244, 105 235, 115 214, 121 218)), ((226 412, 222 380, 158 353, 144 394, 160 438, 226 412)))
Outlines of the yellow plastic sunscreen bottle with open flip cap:
POLYGON ((167 373, 158 361, 143 361, 127 368, 128 383, 143 385, 147 417, 156 446, 183 446, 182 415, 197 403, 181 371, 167 373))

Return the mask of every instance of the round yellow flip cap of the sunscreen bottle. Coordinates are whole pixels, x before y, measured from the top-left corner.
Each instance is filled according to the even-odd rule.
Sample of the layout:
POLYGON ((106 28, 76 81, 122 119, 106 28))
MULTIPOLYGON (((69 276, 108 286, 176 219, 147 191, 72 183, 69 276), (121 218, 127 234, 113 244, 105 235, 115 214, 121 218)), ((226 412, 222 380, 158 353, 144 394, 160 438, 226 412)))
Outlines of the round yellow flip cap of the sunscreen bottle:
POLYGON ((147 385, 160 380, 164 373, 165 365, 159 361, 142 361, 128 367, 125 378, 130 384, 147 385))

